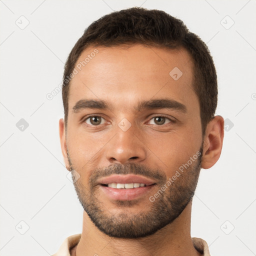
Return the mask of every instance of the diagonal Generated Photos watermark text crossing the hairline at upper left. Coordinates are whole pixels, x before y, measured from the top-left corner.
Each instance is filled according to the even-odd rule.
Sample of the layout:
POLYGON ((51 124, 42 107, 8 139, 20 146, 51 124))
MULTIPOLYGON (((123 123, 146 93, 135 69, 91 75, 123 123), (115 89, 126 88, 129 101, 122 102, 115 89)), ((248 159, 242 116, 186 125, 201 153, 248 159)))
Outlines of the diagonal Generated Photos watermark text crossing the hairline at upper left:
POLYGON ((95 55, 98 53, 98 49, 94 49, 92 52, 90 52, 90 54, 87 54, 87 57, 84 58, 84 60, 80 61, 79 63, 77 63, 73 69, 73 71, 67 75, 64 79, 63 79, 63 84, 60 83, 58 84, 51 92, 46 94, 46 98, 48 100, 51 100, 54 96, 56 96, 58 94, 58 92, 61 91, 62 87, 65 86, 65 84, 68 84, 68 82, 76 75, 78 74, 78 72, 82 69, 82 67, 84 67, 85 65, 87 65, 87 63, 90 62, 90 60, 95 57, 95 55))

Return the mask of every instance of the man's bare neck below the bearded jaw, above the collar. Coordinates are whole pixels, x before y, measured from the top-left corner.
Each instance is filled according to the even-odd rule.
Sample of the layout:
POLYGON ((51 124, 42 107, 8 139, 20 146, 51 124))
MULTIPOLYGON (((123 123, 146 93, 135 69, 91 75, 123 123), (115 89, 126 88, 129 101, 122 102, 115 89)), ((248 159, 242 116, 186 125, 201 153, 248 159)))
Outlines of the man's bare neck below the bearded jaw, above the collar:
POLYGON ((199 256, 201 254, 194 248, 190 236, 190 221, 191 202, 172 223, 152 235, 135 239, 116 238, 98 230, 84 211, 81 238, 72 252, 75 251, 76 256, 161 256, 166 252, 170 256, 199 256))

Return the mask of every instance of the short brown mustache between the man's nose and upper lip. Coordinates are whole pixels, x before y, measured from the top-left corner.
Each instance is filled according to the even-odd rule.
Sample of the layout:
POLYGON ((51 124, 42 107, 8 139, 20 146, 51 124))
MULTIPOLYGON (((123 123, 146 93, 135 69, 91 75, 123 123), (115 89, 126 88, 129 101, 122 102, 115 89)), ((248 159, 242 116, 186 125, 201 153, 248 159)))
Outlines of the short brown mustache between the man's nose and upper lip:
POLYGON ((164 172, 159 169, 152 169, 150 167, 137 164, 137 163, 128 163, 128 164, 111 164, 105 168, 95 169, 89 178, 89 183, 93 185, 98 178, 110 176, 111 174, 136 174, 142 175, 148 178, 153 178, 157 183, 161 184, 166 181, 166 175, 164 172))

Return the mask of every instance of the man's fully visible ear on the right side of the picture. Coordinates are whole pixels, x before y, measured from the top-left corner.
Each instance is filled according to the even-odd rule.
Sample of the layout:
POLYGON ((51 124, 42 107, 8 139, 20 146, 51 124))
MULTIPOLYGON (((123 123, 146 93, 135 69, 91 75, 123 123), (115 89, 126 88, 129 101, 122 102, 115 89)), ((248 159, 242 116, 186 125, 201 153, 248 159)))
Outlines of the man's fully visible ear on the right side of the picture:
POLYGON ((208 169, 218 160, 224 137, 224 119, 220 115, 214 116, 205 129, 201 167, 208 169))

